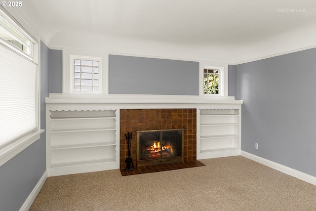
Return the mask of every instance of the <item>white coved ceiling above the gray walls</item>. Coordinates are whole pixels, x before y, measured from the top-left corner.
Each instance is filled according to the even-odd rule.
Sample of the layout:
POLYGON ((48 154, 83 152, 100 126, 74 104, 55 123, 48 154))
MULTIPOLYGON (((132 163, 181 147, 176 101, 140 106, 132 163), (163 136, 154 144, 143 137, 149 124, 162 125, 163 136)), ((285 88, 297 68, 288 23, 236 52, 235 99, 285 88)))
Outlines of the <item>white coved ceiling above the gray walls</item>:
POLYGON ((165 55, 196 48, 198 58, 240 62, 316 45, 316 0, 24 0, 16 10, 51 48, 77 43, 154 55, 172 46, 178 50, 165 55), (258 47, 263 52, 253 55, 258 47))

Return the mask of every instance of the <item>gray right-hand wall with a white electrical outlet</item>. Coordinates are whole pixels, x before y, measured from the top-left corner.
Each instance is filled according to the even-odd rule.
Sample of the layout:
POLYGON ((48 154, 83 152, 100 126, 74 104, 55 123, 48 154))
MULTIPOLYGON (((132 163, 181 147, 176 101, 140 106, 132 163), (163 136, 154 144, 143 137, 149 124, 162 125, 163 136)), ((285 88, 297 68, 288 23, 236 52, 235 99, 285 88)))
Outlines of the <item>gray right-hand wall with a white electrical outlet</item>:
POLYGON ((236 65, 241 150, 316 176, 315 79, 316 48, 236 65))

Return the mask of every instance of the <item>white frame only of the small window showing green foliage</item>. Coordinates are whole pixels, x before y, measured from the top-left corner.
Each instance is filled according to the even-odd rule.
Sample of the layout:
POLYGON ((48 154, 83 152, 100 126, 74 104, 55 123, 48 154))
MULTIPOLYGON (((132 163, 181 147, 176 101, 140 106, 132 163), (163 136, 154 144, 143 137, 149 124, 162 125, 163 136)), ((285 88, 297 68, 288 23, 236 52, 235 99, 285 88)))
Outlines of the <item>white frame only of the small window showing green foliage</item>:
POLYGON ((212 61, 199 62, 199 95, 209 97, 228 96, 228 64, 212 61), (219 70, 218 94, 204 94, 204 69, 219 70))

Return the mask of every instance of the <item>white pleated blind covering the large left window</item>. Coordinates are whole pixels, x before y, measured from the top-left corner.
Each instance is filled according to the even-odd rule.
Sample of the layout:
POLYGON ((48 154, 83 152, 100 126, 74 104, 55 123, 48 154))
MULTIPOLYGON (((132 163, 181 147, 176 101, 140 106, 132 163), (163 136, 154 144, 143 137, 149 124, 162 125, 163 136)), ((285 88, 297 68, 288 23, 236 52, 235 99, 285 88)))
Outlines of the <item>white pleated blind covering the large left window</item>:
POLYGON ((0 44, 0 148, 37 129, 37 65, 0 44))

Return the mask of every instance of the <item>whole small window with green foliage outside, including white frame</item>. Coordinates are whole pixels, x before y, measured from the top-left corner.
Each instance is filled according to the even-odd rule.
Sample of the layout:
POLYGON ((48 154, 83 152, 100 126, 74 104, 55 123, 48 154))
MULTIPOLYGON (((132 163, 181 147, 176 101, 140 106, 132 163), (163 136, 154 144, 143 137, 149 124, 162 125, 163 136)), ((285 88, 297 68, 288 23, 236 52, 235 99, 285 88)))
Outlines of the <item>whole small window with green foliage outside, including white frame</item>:
POLYGON ((200 62, 200 95, 228 96, 228 64, 200 62))

